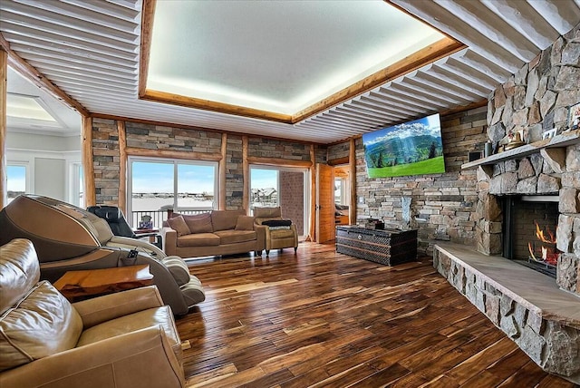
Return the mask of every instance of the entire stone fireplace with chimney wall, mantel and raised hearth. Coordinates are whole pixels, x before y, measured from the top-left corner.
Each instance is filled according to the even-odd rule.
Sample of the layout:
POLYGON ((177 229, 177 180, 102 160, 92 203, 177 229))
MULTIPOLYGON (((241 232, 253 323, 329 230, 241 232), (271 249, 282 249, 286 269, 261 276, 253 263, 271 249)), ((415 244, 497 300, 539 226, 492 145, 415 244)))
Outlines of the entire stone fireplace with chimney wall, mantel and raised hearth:
POLYGON ((580 130, 567 128, 567 112, 580 101, 579 39, 577 25, 490 94, 487 132, 493 148, 516 133, 527 144, 462 166, 477 169, 475 247, 441 243, 433 252, 440 274, 536 364, 577 384, 580 130), (556 136, 542 140, 552 129, 556 136), (556 202, 524 204, 525 216, 505 211, 529 196, 556 202), (536 229, 536 219, 530 218, 556 234, 550 243, 559 254, 556 279, 506 258, 527 255, 527 228, 536 229))

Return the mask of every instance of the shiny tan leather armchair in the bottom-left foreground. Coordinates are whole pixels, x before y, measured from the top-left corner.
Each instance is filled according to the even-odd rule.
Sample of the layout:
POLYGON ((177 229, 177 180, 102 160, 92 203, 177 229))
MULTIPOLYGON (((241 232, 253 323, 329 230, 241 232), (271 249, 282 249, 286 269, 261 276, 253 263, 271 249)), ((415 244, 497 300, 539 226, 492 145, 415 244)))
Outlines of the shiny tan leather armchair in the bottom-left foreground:
POLYGON ((0 387, 183 387, 182 351, 156 286, 69 303, 33 244, 0 247, 0 387))

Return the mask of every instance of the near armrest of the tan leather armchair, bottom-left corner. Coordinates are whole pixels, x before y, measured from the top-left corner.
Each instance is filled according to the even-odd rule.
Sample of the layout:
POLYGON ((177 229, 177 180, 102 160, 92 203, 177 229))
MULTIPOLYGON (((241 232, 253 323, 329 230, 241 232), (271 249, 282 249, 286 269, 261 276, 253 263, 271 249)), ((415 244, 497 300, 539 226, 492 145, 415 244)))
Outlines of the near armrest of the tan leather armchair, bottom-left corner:
POLYGON ((181 360, 160 326, 53 354, 0 373, 2 387, 182 388, 181 360), (154 367, 151 367, 154 365, 154 367))

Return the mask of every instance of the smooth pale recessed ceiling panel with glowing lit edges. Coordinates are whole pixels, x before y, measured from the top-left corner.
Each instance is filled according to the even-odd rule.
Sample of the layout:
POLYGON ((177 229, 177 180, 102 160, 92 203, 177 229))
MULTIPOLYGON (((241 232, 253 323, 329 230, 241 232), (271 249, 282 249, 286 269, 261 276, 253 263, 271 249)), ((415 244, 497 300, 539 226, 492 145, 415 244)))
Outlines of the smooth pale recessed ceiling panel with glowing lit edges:
POLYGON ((292 114, 443 37, 382 0, 158 1, 147 89, 292 114))

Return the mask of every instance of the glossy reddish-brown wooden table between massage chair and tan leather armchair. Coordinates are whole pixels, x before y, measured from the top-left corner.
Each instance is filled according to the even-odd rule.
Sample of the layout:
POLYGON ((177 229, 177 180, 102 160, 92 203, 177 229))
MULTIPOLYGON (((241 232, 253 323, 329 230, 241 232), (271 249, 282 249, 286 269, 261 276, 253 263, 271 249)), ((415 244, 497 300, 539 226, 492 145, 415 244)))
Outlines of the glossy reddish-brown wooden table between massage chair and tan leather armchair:
POLYGON ((148 264, 68 271, 54 282, 54 286, 71 302, 152 284, 153 275, 148 264))

